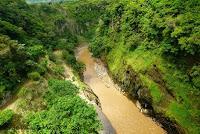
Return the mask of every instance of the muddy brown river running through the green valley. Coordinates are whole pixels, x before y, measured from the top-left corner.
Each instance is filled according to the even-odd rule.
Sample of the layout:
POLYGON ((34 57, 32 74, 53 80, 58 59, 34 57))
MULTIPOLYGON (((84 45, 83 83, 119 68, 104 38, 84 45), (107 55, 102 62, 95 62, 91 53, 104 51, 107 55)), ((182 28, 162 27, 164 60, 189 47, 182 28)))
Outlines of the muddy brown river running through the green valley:
POLYGON ((87 45, 77 50, 77 58, 86 65, 84 81, 99 97, 102 112, 117 134, 164 134, 165 131, 124 96, 107 74, 103 64, 94 58, 87 45))

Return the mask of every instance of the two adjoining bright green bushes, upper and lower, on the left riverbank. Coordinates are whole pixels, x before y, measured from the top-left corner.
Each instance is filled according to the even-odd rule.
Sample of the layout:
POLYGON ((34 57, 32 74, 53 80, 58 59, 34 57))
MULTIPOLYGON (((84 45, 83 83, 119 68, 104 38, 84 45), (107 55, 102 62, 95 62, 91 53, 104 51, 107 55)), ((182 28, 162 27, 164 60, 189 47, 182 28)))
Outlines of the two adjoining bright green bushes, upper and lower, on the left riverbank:
POLYGON ((96 112, 76 94, 78 88, 69 81, 50 80, 45 95, 47 109, 26 117, 31 133, 98 133, 96 112))

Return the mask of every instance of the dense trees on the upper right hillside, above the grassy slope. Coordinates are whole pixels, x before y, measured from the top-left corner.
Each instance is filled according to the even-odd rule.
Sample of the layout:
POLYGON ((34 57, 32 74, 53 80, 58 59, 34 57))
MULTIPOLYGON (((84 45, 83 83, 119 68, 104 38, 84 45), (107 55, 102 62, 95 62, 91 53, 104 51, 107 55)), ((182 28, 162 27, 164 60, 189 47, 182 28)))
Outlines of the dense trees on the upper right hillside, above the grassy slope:
POLYGON ((131 50, 143 44, 147 49, 162 48, 173 55, 199 56, 199 4, 198 0, 111 2, 101 16, 92 45, 98 49, 92 50, 94 54, 104 52, 107 46, 104 37, 111 35, 117 40, 118 32, 131 50))

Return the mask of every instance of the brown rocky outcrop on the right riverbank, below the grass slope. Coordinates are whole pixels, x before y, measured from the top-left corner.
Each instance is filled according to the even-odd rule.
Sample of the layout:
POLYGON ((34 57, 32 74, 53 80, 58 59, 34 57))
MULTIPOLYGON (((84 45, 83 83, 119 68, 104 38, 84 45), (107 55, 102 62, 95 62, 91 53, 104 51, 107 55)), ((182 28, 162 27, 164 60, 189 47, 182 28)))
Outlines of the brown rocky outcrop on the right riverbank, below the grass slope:
POLYGON ((139 75, 130 66, 113 75, 113 79, 130 99, 138 100, 142 108, 152 109, 152 98, 148 88, 143 86, 139 75))

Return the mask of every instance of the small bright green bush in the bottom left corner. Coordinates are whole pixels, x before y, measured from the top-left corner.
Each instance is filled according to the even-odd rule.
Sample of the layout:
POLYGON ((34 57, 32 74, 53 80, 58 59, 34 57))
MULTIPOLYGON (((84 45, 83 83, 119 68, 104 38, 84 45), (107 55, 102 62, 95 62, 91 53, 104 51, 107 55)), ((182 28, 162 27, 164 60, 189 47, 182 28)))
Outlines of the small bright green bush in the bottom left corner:
POLYGON ((14 113, 12 110, 3 110, 0 111, 0 127, 9 123, 12 120, 14 113))

